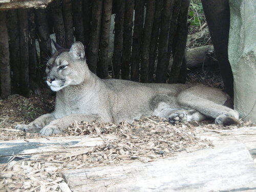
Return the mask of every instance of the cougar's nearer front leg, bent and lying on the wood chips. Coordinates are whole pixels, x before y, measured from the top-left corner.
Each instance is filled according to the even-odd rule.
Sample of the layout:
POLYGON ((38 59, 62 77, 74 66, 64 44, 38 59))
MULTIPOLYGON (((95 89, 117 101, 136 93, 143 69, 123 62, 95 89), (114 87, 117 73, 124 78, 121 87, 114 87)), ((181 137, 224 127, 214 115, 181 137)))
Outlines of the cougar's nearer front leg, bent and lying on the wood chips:
POLYGON ((80 121, 103 121, 102 118, 98 115, 83 115, 83 114, 73 114, 66 117, 63 117, 61 119, 56 119, 54 121, 51 121, 50 124, 46 125, 44 128, 41 129, 40 134, 41 135, 51 135, 59 133, 63 130, 65 130, 70 124, 74 122, 80 122, 80 121))

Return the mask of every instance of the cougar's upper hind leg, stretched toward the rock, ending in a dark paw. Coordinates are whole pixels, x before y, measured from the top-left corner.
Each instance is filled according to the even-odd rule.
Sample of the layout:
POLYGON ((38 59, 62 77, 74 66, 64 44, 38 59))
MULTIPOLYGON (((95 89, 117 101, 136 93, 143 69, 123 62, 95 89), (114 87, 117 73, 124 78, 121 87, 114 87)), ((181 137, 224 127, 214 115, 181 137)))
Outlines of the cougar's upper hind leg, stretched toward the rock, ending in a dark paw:
POLYGON ((198 97, 195 94, 184 92, 178 96, 177 100, 181 108, 187 110, 193 109, 205 116, 215 118, 217 124, 230 125, 239 123, 239 114, 236 110, 198 97))

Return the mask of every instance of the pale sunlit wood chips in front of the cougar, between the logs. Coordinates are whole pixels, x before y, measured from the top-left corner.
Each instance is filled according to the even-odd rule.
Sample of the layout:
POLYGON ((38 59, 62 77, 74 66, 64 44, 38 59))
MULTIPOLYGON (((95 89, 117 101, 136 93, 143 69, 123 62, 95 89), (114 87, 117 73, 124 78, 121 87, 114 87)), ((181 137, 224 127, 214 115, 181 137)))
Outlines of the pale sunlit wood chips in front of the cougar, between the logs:
MULTIPOLYGON (((133 124, 74 123, 58 136, 98 137, 113 134, 117 139, 106 140, 88 153, 61 159, 63 163, 54 163, 58 159, 49 157, 48 162, 23 159, 1 164, 0 191, 61 191, 63 170, 134 161, 150 162, 180 152, 192 152, 212 146, 210 141, 198 139, 195 133, 194 125, 174 126, 159 117, 142 118, 133 124)), ((37 134, 29 136, 43 137, 37 134)))

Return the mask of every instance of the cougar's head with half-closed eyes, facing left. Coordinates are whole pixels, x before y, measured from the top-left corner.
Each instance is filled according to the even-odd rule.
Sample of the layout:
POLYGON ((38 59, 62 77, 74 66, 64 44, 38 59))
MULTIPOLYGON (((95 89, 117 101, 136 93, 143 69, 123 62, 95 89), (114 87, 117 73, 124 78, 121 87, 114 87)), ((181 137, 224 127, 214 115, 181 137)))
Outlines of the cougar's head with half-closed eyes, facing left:
POLYGON ((47 62, 47 84, 52 91, 75 86, 84 80, 84 47, 77 41, 70 50, 60 49, 47 62))

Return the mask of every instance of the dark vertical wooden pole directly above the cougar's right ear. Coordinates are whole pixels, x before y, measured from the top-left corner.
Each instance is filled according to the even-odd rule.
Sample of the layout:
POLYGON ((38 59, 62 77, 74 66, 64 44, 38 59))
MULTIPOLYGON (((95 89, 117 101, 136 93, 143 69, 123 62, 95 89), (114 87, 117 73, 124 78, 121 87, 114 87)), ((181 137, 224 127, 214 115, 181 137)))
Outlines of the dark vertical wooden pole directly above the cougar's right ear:
POLYGON ((76 41, 82 42, 84 45, 84 30, 83 30, 83 14, 82 14, 82 0, 73 0, 73 22, 75 28, 75 38, 76 41))

